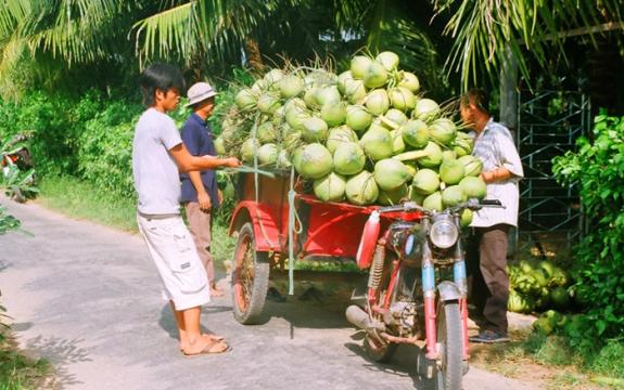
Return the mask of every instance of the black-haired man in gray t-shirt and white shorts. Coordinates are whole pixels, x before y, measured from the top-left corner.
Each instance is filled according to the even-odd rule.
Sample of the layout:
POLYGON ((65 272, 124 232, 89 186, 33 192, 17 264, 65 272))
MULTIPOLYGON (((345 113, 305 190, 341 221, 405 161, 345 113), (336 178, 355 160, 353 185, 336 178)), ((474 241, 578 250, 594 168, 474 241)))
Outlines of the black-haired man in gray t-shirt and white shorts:
POLYGON ((140 79, 149 108, 141 115, 132 143, 132 174, 139 194, 137 222, 163 282, 178 325, 184 355, 221 353, 221 337, 202 335, 201 306, 209 301, 207 276, 180 216, 180 172, 238 167, 237 158, 192 156, 166 113, 175 109, 184 82, 176 67, 154 64, 140 79))

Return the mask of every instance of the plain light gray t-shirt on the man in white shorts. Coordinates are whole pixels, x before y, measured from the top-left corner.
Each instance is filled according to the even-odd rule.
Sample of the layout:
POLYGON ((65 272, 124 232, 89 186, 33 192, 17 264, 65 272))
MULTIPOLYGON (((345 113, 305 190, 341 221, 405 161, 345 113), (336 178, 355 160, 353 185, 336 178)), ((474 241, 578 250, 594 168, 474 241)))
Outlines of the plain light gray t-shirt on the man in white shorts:
POLYGON ((155 108, 139 118, 132 142, 132 174, 139 193, 139 212, 180 212, 180 177, 168 151, 182 143, 174 119, 155 108))

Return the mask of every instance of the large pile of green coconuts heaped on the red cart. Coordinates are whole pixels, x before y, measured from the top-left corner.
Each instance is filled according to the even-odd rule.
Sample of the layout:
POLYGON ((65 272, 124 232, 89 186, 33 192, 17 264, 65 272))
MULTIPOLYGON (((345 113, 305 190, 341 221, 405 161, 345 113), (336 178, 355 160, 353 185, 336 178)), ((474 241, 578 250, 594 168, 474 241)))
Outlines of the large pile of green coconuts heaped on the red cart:
POLYGON ((419 93, 418 77, 382 52, 322 67, 271 69, 235 95, 215 140, 245 165, 290 169, 324 202, 442 210, 485 196, 471 138, 419 93))

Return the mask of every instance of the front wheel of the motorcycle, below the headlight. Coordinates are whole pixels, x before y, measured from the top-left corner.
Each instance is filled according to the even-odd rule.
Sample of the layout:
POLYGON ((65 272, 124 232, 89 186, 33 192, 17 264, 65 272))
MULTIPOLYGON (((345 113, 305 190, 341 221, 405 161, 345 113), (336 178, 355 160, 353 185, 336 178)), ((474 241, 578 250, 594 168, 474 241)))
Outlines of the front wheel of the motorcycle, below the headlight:
POLYGON ((436 390, 460 390, 463 377, 461 314, 456 301, 441 302, 437 310, 436 390))

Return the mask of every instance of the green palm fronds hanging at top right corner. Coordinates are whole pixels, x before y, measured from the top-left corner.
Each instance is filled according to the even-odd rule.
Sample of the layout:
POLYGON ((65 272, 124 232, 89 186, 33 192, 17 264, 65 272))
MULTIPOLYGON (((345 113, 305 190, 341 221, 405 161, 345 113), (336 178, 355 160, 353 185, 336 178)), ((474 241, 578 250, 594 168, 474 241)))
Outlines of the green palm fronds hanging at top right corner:
POLYGON ((518 62, 525 79, 529 62, 547 64, 553 53, 565 55, 568 37, 624 28, 620 0, 435 0, 436 16, 449 20, 445 34, 455 43, 447 72, 461 74, 462 87, 479 81, 479 72, 492 78, 508 63, 518 62))

